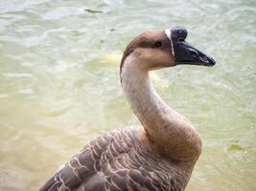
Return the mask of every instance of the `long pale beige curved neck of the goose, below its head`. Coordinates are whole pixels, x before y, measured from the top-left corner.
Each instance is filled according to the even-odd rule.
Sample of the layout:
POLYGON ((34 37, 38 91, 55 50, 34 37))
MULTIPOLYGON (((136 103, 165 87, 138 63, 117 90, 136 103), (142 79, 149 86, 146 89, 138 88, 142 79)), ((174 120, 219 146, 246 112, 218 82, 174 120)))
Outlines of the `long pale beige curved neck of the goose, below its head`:
POLYGON ((149 73, 128 56, 122 68, 123 91, 157 150, 172 159, 195 160, 200 139, 192 123, 170 108, 154 91, 149 73))

